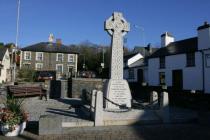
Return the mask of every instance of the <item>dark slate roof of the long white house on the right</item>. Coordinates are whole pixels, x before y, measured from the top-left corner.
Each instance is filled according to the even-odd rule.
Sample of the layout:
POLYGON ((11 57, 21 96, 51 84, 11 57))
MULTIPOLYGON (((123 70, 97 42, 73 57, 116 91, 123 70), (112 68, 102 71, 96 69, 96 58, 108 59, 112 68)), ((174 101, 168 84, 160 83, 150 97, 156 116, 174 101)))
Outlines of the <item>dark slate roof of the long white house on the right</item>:
POLYGON ((194 37, 194 38, 172 42, 168 44, 166 47, 158 49, 149 58, 192 53, 196 52, 197 50, 198 50, 198 38, 194 37))

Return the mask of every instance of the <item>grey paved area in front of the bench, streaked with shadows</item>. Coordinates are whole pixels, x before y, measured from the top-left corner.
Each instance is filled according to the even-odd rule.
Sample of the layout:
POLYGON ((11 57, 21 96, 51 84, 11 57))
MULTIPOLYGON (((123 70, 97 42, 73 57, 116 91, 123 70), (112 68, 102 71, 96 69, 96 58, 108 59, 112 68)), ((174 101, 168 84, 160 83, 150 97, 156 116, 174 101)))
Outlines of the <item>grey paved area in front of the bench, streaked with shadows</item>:
POLYGON ((77 104, 81 104, 78 99, 45 99, 39 100, 38 97, 26 98, 24 100, 24 108, 29 113, 29 121, 38 121, 40 115, 60 115, 60 116, 71 116, 78 117, 75 114, 75 109, 71 107, 77 104))

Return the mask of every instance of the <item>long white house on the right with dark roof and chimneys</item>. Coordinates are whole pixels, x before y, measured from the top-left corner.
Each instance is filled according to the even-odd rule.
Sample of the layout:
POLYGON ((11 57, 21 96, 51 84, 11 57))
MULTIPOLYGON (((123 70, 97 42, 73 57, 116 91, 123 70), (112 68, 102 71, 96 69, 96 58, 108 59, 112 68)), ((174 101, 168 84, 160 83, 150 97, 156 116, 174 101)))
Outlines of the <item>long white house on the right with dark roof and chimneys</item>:
POLYGON ((210 25, 198 27, 197 37, 174 41, 161 35, 161 48, 148 60, 149 86, 210 93, 210 25))

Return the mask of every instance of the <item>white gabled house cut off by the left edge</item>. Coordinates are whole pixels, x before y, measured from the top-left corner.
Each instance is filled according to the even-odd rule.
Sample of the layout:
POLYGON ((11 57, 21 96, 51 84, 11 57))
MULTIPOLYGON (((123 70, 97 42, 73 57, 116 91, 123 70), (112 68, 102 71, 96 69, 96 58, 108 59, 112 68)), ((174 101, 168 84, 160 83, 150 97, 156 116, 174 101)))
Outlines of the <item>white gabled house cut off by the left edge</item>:
POLYGON ((10 56, 6 47, 0 48, 0 83, 10 79, 10 56))

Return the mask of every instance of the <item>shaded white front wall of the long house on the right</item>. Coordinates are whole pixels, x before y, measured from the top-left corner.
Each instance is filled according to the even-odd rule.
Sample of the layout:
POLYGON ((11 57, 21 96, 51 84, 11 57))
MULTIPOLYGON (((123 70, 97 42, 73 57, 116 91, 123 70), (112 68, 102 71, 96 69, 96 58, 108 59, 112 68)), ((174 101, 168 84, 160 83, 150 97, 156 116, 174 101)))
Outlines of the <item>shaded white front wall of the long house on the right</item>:
POLYGON ((159 58, 149 59, 148 77, 150 86, 159 85, 159 72, 165 72, 167 86, 172 86, 172 71, 183 70, 183 89, 202 90, 202 55, 195 54, 195 67, 186 67, 186 55, 172 55, 165 57, 165 69, 159 69, 159 58))

